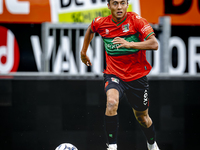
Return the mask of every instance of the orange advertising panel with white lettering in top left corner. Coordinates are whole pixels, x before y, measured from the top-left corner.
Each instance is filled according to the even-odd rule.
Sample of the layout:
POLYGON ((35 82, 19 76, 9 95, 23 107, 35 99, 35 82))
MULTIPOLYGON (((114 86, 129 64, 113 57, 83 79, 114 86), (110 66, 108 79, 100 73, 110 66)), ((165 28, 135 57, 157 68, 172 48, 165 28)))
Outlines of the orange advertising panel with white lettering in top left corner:
POLYGON ((41 23, 51 21, 49 0, 0 0, 0 22, 41 23))

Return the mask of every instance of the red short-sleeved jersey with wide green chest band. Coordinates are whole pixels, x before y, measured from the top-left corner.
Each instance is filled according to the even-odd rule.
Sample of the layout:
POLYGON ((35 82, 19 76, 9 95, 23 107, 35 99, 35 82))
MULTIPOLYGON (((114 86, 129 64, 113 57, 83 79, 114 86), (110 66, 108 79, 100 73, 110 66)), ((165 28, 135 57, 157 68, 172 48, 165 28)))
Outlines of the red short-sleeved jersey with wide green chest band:
POLYGON ((91 23, 93 32, 99 33, 104 41, 106 54, 106 69, 104 73, 113 74, 129 82, 147 75, 151 65, 146 60, 146 50, 119 48, 113 44, 115 37, 121 37, 128 42, 140 42, 154 35, 149 23, 134 12, 117 22, 112 15, 97 17, 91 23))

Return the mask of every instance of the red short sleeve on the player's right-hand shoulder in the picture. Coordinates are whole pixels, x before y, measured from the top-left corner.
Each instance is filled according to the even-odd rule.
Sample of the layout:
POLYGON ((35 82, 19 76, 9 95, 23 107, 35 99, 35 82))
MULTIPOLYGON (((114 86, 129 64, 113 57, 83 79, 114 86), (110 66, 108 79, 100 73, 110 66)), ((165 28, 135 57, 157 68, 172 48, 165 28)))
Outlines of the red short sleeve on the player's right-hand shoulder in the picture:
POLYGON ((153 28, 150 26, 147 20, 142 18, 141 16, 135 16, 134 24, 136 30, 142 35, 143 39, 147 40, 152 35, 155 35, 153 28))

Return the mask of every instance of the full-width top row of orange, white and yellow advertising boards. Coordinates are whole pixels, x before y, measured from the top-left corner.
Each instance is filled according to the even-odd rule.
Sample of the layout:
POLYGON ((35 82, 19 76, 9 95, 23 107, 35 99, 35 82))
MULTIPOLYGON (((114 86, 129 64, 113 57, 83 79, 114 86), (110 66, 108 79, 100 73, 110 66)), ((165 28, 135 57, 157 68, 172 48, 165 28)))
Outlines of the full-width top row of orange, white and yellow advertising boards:
MULTIPOLYGON (((170 16, 172 25, 200 25, 200 0, 129 0, 134 11, 150 23, 170 16)), ((107 0, 0 0, 0 22, 91 22, 107 16, 107 0)))

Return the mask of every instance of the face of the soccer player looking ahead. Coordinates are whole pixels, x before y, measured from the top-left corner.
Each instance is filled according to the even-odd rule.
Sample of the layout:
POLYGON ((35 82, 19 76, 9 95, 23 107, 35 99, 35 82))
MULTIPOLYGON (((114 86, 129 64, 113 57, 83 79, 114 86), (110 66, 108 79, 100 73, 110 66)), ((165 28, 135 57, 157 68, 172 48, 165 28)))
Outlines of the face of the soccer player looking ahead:
POLYGON ((120 21, 126 15, 128 2, 127 0, 110 0, 108 8, 111 11, 112 17, 116 21, 120 21))

